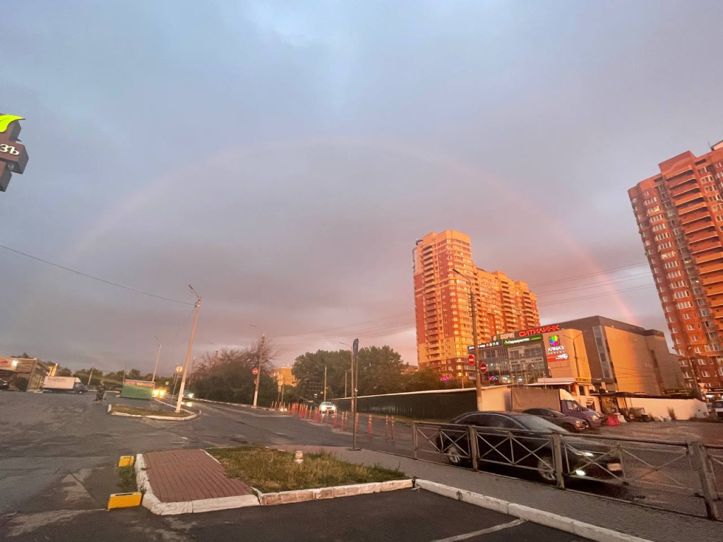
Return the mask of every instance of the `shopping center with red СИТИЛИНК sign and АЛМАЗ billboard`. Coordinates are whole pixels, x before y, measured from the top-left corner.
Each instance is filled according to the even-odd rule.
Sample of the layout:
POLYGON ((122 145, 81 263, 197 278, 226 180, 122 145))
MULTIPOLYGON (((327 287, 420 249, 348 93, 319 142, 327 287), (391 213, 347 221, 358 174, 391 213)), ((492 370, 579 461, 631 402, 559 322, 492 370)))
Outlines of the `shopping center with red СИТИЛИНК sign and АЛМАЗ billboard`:
POLYGON ((479 345, 479 357, 489 384, 567 381, 649 395, 684 387, 662 332, 599 316, 495 335, 479 345))

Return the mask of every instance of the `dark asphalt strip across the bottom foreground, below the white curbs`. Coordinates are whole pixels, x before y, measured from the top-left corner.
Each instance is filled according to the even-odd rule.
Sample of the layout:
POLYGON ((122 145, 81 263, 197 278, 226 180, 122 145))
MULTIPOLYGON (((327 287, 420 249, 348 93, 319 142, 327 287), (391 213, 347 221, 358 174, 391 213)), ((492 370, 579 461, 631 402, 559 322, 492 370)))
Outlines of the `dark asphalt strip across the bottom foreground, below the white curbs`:
POLYGON ((421 490, 179 516, 154 516, 142 508, 0 516, 0 539, 13 542, 584 541, 569 533, 421 490))

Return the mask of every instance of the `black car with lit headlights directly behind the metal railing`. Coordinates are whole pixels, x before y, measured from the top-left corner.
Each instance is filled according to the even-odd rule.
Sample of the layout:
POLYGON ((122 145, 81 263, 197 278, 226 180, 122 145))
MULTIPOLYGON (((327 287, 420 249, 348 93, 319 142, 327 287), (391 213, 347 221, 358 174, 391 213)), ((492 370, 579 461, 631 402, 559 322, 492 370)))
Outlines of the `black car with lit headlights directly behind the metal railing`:
MULTIPOLYGON (((565 476, 609 479, 623 476, 623 464, 617 452, 587 439, 575 438, 562 427, 539 416, 518 412, 469 412, 450 423, 475 426, 478 430, 479 465, 502 465, 536 469, 539 478, 555 483, 552 439, 557 431, 565 435, 562 463, 565 476)), ((449 463, 463 465, 469 460, 466 434, 449 428, 441 431, 437 444, 449 463)))

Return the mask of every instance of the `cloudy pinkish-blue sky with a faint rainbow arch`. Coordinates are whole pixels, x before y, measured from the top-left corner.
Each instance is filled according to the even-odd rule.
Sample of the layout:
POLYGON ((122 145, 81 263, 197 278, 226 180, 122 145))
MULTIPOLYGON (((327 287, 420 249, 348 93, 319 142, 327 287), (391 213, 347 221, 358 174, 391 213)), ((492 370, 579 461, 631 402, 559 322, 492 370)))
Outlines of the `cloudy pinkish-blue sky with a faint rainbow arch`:
POLYGON ((278 365, 354 337, 416 364, 411 252, 445 229, 543 323, 665 329, 627 190, 723 139, 715 0, 4 12, 0 112, 30 162, 0 244, 187 304, 0 249, 0 356, 151 371, 159 337, 168 373, 191 284, 194 356, 263 332, 278 365))

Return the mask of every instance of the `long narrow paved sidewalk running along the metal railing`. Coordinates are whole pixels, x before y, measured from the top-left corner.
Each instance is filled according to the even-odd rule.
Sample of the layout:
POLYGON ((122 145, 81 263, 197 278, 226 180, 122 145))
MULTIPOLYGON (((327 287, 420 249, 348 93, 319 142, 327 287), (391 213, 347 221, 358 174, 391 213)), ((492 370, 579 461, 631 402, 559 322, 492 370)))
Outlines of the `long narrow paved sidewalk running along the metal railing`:
POLYGON ((301 450, 304 453, 324 449, 351 463, 398 468, 408 476, 474 491, 654 542, 723 541, 723 522, 638 507, 634 504, 574 491, 562 491, 514 478, 476 473, 367 449, 351 452, 346 447, 276 446, 275 448, 288 451, 301 450))

